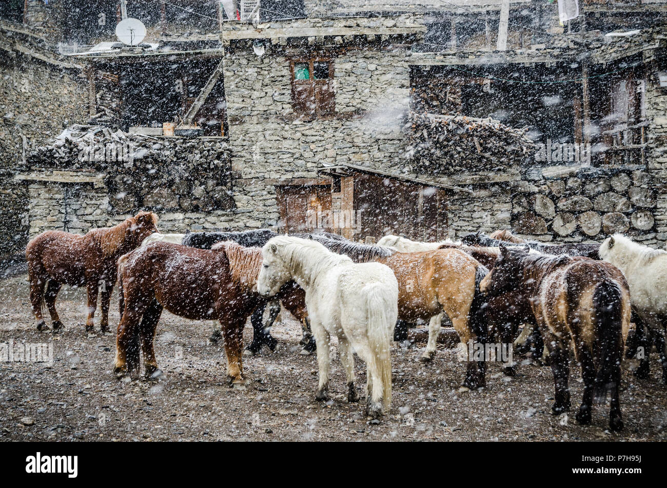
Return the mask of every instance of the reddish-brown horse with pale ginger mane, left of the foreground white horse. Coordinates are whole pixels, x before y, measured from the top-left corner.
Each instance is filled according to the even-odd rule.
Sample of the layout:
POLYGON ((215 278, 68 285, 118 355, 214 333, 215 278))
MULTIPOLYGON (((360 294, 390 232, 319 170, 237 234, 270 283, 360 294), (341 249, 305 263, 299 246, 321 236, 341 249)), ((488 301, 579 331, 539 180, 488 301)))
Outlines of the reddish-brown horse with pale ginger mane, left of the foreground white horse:
MULTIPOLYGON (((243 389, 243 327, 266 299, 256 290, 261 249, 222 243, 216 249, 197 249, 171 243, 152 243, 119 259, 122 319, 116 337, 114 373, 139 375, 139 343, 145 377, 157 369, 153 337, 162 309, 194 320, 218 320, 227 354, 227 376, 243 389)), ((305 293, 286 283, 277 295, 283 306, 304 321, 305 293)))

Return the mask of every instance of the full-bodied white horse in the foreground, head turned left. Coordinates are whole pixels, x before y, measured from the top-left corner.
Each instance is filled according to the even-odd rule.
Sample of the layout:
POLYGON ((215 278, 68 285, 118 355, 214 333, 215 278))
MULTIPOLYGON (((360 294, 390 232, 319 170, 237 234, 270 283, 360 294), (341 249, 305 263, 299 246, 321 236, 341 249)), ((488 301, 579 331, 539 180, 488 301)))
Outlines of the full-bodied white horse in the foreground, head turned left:
POLYGON ((348 401, 359 400, 352 357, 356 352, 368 369, 366 415, 380 417, 392 401, 390 347, 398 317, 398 282, 392 270, 380 263, 353 263, 316 241, 298 237, 273 237, 261 255, 259 293, 271 297, 290 279, 305 290, 319 366, 315 399, 327 399, 329 340, 335 335, 348 381, 348 401))

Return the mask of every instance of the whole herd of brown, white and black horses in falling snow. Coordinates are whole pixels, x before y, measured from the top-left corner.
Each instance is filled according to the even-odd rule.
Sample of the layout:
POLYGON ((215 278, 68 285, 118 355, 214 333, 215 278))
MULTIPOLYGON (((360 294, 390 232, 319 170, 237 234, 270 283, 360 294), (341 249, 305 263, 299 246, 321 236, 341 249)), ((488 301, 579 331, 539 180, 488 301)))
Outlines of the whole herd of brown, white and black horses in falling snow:
MULTIPOLYGON (((242 232, 161 234, 157 215, 140 212, 114 227, 86 235, 46 231, 26 248, 30 300, 39 331, 63 329, 55 300, 61 285, 85 285, 86 331, 101 287, 102 332, 109 297, 118 281, 120 322, 114 373, 146 379, 162 373, 153 339, 163 309, 187 319, 215 321, 211 342, 223 339, 229 383, 243 389, 243 328, 250 317, 253 340, 275 349, 271 325, 281 307, 300 323, 302 354, 317 353, 315 398, 327 399, 329 341, 338 338, 348 401, 359 400, 354 353, 367 367, 366 413, 390 408, 391 345, 407 339, 407 325, 428 323, 420 361, 432 361, 438 333, 451 321, 462 345, 514 343, 550 364, 556 389, 552 413, 570 409, 572 355, 581 365, 584 395, 576 419, 591 421, 594 401, 610 397, 610 429, 623 427, 621 362, 638 357, 635 374, 649 373, 656 346, 667 383, 667 252, 614 235, 600 244, 525 241, 510 231, 472 233, 461 241, 417 242, 387 235, 377 244, 332 233, 278 235, 242 232), (263 321, 266 307, 269 319, 263 321), (636 325, 628 340, 630 323, 636 325), (625 355, 624 355, 625 351, 625 355)), ((486 383, 486 356, 466 357, 461 391, 486 383)), ((503 364, 506 375, 515 363, 503 364)))

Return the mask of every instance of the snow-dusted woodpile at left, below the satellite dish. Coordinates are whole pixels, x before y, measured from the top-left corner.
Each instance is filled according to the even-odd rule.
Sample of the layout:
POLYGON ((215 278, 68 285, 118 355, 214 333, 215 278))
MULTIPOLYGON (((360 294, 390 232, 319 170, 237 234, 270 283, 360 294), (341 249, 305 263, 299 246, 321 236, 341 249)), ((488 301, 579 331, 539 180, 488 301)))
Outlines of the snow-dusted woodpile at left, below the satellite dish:
POLYGON ((115 213, 233 207, 229 147, 217 139, 129 135, 75 125, 30 153, 27 165, 105 173, 115 213))

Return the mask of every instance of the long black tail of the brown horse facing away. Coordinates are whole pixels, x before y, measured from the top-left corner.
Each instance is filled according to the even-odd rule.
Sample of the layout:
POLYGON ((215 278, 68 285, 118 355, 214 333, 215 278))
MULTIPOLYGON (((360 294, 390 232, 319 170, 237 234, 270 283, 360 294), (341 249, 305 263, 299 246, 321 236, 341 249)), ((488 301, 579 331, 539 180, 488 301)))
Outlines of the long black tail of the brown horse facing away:
POLYGON ((623 296, 618 285, 603 280, 593 292, 594 356, 597 358, 595 401, 606 400, 612 387, 620 387, 623 354, 622 322, 623 296))

